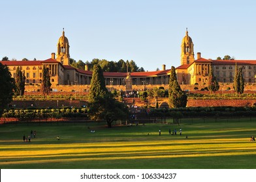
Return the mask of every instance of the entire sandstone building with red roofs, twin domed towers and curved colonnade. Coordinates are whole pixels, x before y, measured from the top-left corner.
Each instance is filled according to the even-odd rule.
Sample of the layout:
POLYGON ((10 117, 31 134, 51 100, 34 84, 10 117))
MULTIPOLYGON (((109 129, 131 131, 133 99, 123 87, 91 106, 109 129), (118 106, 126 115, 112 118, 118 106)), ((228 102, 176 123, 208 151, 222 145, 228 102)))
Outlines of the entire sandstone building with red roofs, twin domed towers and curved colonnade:
MULTIPOLYGON (((246 83, 255 83, 256 60, 212 60, 204 59, 197 53, 195 59, 194 44, 188 32, 182 39, 180 66, 176 68, 180 85, 194 85, 208 83, 210 66, 220 83, 232 83, 235 64, 243 68, 246 83)), ((42 67, 50 70, 51 82, 56 85, 90 85, 92 72, 85 66, 84 70, 73 68, 69 62, 69 40, 63 30, 57 42, 57 53, 52 53, 47 60, 13 60, 1 61, 7 65, 10 73, 15 77, 16 68, 20 66, 25 71, 27 84, 40 84, 42 81, 42 67)), ((172 61, 172 60, 170 60, 172 61)), ((167 86, 170 69, 162 66, 162 70, 155 72, 104 72, 106 86, 124 86, 126 91, 138 86, 167 86), (129 86, 128 86, 129 85, 129 86)))

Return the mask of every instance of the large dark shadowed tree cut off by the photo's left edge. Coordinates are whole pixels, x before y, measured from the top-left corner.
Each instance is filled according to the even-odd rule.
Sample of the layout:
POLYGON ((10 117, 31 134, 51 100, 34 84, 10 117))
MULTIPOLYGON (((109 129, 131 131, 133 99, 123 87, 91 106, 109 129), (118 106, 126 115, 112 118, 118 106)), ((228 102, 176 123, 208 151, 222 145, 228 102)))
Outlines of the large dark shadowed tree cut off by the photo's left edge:
POLYGON ((12 96, 14 95, 15 90, 15 81, 12 78, 11 73, 8 70, 7 66, 3 66, 0 62, 0 116, 5 109, 12 101, 12 96))

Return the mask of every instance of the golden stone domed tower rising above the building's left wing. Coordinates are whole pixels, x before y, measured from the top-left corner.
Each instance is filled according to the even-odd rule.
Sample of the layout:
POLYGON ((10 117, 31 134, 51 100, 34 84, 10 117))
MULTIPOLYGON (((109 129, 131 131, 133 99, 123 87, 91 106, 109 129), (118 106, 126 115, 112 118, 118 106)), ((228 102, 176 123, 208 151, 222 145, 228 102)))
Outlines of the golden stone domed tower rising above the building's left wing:
POLYGON ((65 37, 63 28, 62 36, 57 42, 57 55, 56 60, 61 62, 63 65, 69 65, 69 40, 65 37))

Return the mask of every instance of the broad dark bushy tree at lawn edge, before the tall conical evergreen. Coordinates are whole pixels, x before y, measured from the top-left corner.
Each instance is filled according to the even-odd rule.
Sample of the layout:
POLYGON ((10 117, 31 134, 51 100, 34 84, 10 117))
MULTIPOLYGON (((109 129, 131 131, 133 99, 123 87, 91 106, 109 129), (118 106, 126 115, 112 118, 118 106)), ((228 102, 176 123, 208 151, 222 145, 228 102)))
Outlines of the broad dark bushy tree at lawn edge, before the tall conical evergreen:
POLYGON ((124 103, 116 101, 113 95, 108 93, 104 96, 97 96, 88 103, 88 116, 91 120, 106 120, 110 128, 112 122, 127 119, 128 109, 124 103))

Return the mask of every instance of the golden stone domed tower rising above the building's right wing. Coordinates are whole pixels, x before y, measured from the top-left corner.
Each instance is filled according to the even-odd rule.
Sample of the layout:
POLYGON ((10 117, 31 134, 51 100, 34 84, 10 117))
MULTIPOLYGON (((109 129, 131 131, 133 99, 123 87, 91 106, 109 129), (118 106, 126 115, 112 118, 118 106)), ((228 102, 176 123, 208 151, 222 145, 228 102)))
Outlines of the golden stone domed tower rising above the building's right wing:
POLYGON ((181 54, 181 65, 190 64, 195 60, 194 58, 194 44, 192 38, 189 36, 189 32, 185 32, 185 36, 182 39, 182 54, 181 54))

